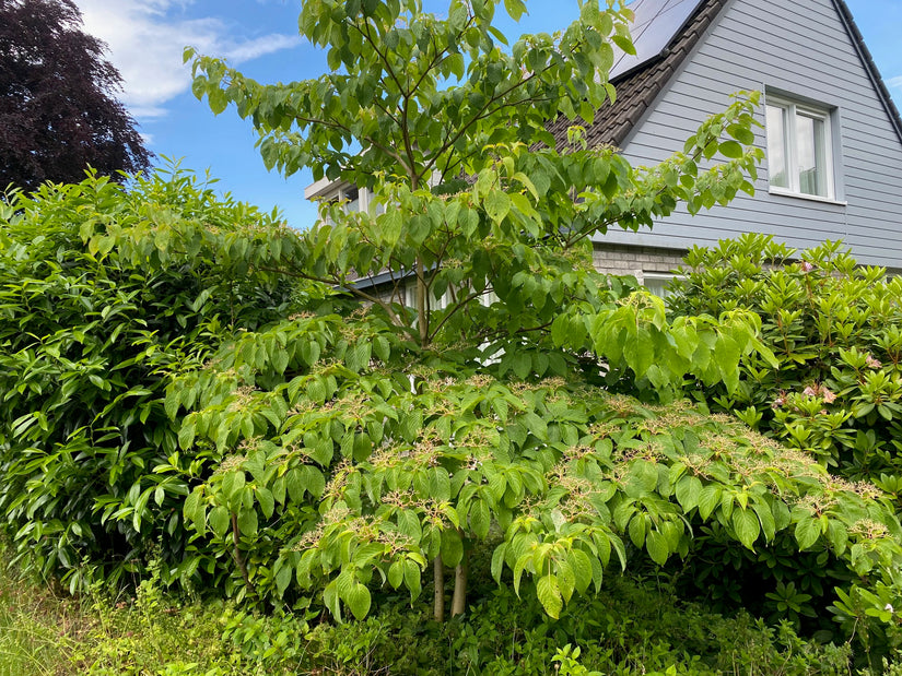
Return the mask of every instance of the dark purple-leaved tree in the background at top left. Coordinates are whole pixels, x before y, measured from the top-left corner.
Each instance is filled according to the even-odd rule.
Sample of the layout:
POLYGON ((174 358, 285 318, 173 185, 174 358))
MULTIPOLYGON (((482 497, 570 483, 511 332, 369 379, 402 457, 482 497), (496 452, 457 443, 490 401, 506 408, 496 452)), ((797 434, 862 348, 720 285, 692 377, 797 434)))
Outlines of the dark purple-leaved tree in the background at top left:
POLYGON ((72 0, 0 0, 0 187, 148 167, 118 71, 72 0))

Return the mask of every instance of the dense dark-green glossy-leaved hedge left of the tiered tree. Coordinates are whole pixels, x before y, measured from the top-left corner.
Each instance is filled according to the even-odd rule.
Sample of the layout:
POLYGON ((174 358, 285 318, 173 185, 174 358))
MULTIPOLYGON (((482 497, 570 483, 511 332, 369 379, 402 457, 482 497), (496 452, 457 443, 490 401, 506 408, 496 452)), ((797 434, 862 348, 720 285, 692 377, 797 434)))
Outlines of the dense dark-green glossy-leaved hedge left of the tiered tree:
POLYGON ((151 544, 184 572, 188 486, 155 472, 177 450, 164 388, 230 332, 279 317, 295 292, 175 234, 248 223, 271 226, 177 168, 128 190, 91 177, 0 201, 0 510, 43 576, 71 590, 130 581, 151 544), (132 230, 155 239, 153 256, 114 250, 113 235, 132 230), (183 247, 190 263, 167 264, 183 247))

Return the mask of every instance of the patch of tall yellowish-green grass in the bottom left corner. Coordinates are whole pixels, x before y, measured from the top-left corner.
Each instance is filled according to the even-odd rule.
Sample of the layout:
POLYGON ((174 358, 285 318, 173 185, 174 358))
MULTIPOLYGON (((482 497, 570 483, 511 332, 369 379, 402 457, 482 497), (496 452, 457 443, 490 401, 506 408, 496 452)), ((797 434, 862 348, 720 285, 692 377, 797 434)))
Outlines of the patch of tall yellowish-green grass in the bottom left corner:
POLYGON ((251 674, 222 640, 229 615, 150 583, 133 598, 73 598, 0 566, 0 676, 251 674))

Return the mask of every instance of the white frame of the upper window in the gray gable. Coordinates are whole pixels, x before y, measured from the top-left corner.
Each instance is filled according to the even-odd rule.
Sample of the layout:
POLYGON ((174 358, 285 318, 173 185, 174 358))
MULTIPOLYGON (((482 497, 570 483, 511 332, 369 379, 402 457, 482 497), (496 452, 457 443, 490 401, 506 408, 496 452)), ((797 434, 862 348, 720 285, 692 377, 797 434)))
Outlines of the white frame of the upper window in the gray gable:
MULTIPOLYGON (((786 124, 784 126, 784 134, 786 141, 786 174, 788 177, 788 187, 783 186, 774 186, 770 183, 769 192, 771 194, 784 194, 789 197, 796 198, 804 198, 807 200, 820 200, 827 202, 835 202, 836 201, 836 177, 835 177, 835 167, 837 166, 837 158, 836 158, 836 144, 833 139, 833 115, 825 106, 816 106, 807 103, 801 103, 798 100, 794 100, 788 97, 784 96, 775 96, 773 94, 769 94, 765 102, 765 115, 764 119, 766 121, 766 108, 774 107, 780 108, 785 111, 786 114, 786 124), (796 117, 803 116, 812 118, 816 120, 820 120, 823 123, 823 141, 824 141, 824 174, 827 175, 827 194, 812 194, 809 192, 803 192, 801 187, 799 185, 799 171, 798 171, 798 140, 796 138, 796 117)), ((771 129, 766 129, 768 138, 771 138, 773 131, 771 129)), ((771 175, 771 167, 770 167, 770 156, 768 157, 769 162, 769 180, 771 175)))

